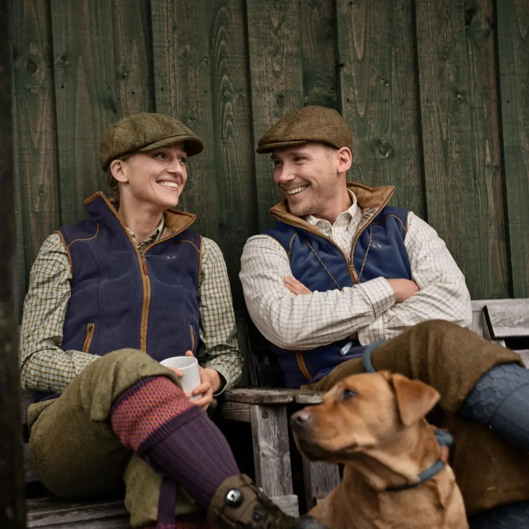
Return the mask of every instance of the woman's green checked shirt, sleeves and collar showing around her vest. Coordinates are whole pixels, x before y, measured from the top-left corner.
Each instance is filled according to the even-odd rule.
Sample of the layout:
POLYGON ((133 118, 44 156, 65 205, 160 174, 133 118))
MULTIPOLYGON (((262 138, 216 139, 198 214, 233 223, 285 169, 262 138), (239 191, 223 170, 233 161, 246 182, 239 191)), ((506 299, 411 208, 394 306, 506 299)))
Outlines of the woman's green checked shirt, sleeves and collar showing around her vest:
MULTIPOLYGON (((138 250, 159 240, 164 233, 162 216, 154 233, 138 243, 138 250)), ((61 393, 90 362, 99 358, 83 351, 63 351, 60 348, 71 278, 68 250, 60 235, 54 233, 44 241, 33 263, 24 300, 19 359, 21 385, 25 389, 61 393)), ((218 245, 206 237, 202 238, 198 295, 200 340, 197 359, 200 366, 221 373, 226 380, 221 390, 224 391, 233 387, 241 377, 242 355, 237 345, 226 263, 218 245)))

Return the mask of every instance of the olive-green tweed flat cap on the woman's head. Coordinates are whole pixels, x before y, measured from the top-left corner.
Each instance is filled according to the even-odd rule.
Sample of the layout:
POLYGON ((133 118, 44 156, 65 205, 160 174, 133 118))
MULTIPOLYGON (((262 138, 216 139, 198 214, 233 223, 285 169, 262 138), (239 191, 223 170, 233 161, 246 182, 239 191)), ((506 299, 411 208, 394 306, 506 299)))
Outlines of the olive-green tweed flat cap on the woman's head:
POLYGON ((183 123, 165 114, 140 112, 112 124, 99 146, 99 165, 106 171, 112 160, 129 152, 150 151, 184 142, 187 156, 204 150, 204 142, 183 123))

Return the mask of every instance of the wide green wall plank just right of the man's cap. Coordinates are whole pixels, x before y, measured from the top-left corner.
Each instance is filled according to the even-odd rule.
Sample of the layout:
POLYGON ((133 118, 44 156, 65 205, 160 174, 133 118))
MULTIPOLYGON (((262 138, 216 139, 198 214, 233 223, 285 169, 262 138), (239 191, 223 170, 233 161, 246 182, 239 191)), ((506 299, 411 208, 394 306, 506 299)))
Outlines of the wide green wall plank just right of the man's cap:
POLYGON ((425 217, 413 6, 337 0, 342 113, 357 140, 351 180, 394 185, 392 204, 425 217))

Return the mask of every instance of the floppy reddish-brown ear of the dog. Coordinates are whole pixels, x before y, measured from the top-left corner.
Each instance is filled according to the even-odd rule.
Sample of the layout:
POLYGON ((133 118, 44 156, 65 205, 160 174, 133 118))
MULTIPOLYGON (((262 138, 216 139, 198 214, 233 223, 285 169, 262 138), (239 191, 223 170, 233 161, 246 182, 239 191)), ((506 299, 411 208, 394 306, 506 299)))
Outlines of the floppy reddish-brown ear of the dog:
POLYGON ((432 386, 398 373, 391 375, 391 384, 397 397, 400 419, 405 426, 411 426, 424 417, 440 399, 432 386))

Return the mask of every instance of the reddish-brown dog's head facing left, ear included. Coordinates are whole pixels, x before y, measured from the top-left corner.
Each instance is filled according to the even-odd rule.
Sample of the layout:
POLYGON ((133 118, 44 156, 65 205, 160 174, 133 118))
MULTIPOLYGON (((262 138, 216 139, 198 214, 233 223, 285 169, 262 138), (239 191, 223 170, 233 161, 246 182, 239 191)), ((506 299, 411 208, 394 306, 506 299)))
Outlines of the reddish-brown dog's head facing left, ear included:
POLYGON ((352 375, 328 391, 322 404, 293 414, 290 424, 309 459, 345 463, 359 452, 398 444, 439 398, 431 386, 397 373, 352 375))

